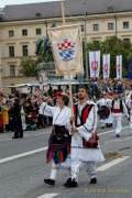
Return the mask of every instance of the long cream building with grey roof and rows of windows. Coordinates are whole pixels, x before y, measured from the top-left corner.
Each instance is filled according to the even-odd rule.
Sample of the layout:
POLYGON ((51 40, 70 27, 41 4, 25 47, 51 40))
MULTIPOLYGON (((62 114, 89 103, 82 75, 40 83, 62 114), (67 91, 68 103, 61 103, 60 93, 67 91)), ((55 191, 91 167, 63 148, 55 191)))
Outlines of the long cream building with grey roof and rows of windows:
MULTIPOLYGON (((82 36, 89 41, 103 41, 108 36, 118 36, 132 42, 132 3, 110 4, 108 0, 66 1, 66 23, 80 23, 82 36), (95 7, 92 6, 95 1, 95 7), (81 3, 81 4, 80 4, 81 3)), ((0 10, 0 53, 3 84, 18 81, 21 74, 21 59, 35 58, 35 43, 45 36, 47 29, 55 23, 62 24, 61 2, 8 6, 0 10)))

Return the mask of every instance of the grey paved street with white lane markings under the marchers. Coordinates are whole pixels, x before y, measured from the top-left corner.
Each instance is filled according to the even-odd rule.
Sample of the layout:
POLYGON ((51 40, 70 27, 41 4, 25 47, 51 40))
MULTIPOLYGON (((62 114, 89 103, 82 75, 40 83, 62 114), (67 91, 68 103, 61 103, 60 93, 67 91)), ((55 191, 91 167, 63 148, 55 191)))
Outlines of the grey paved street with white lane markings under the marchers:
POLYGON ((127 123, 123 128, 120 139, 112 129, 99 129, 107 158, 98 164, 98 184, 88 184, 82 167, 76 189, 63 187, 68 176, 63 169, 55 187, 43 183, 50 174, 45 155, 51 128, 24 132, 22 140, 12 140, 12 133, 0 134, 0 198, 132 198, 132 131, 127 123))

